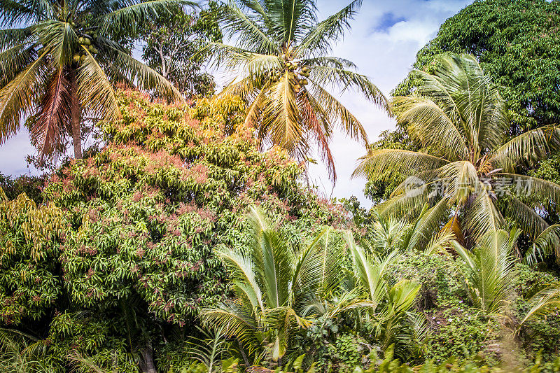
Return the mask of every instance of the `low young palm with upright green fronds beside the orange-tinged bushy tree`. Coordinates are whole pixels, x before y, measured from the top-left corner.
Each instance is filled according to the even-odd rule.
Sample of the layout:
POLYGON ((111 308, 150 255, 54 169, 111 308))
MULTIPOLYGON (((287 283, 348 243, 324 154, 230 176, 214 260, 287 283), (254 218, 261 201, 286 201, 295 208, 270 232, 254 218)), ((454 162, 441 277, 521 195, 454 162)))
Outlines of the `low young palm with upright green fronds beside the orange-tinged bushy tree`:
POLYGON ((202 320, 237 338, 251 352, 272 346, 272 358, 279 360, 293 333, 307 328, 308 318, 323 311, 319 301, 337 284, 339 260, 330 228, 299 249, 290 247, 257 209, 250 218, 249 252, 219 251, 232 272, 235 299, 205 309, 202 320))

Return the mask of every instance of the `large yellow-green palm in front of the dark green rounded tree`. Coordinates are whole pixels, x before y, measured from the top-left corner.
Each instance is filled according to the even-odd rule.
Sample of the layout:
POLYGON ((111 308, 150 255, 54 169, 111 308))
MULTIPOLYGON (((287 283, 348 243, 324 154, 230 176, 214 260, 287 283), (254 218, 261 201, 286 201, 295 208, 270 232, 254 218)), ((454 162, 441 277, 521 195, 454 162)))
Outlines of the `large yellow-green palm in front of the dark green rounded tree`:
POLYGON ((560 204, 560 185, 516 171, 558 148, 560 129, 540 127, 506 141, 507 106, 475 57, 442 55, 433 67, 433 74, 413 71, 418 91, 391 101, 423 150, 371 150, 353 175, 409 176, 379 210, 411 217, 428 204, 439 223, 432 233, 447 223, 472 245, 510 219, 535 242, 526 260, 554 248, 559 254, 560 227, 549 227, 538 211, 560 204))

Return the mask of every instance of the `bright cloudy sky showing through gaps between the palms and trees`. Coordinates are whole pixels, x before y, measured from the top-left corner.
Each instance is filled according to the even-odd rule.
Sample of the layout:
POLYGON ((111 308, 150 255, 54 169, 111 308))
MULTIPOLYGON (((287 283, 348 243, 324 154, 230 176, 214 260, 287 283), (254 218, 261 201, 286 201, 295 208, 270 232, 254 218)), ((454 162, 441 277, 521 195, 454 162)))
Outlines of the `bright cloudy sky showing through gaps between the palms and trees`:
MULTIPOLYGON (((321 19, 336 13, 349 0, 318 0, 321 19)), ((371 80, 388 97, 389 92, 407 76, 416 52, 437 33, 440 24, 472 1, 467 0, 363 0, 362 8, 344 39, 333 45, 332 55, 351 60, 358 72, 371 80)), ((335 97, 356 115, 365 127, 370 141, 375 141, 385 129, 393 129, 395 122, 384 111, 375 108, 355 92, 332 91, 335 97)), ((22 126, 23 127, 23 126, 22 126)), ((311 165, 309 175, 318 191, 325 197, 355 195, 369 207, 364 197, 364 178, 350 178, 356 160, 365 148, 342 134, 332 137, 331 150, 335 157, 337 183, 332 185, 322 164, 311 165)), ((25 157, 34 154, 29 134, 23 129, 0 146, 0 173, 13 176, 37 174, 28 167, 25 157)))

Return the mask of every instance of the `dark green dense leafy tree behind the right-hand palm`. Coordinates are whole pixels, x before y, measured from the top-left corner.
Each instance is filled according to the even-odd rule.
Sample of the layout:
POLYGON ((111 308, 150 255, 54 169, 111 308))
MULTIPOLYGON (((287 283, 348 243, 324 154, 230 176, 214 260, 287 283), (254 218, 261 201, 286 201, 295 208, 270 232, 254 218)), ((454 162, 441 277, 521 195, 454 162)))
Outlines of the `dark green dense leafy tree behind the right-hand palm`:
MULTIPOLYGON (((475 1, 442 24, 416 55, 431 69, 443 52, 475 55, 510 106, 512 134, 560 122, 560 1, 475 1)), ((395 90, 414 90, 410 76, 395 90)))

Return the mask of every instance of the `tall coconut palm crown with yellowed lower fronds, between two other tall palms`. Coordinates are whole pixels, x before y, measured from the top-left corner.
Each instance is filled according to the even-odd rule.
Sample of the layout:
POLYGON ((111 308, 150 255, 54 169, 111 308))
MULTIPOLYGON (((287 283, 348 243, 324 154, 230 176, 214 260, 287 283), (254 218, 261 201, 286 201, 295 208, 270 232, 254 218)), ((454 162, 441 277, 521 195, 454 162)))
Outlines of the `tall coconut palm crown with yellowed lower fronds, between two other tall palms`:
POLYGON ((342 37, 360 4, 353 1, 318 22, 314 0, 230 1, 219 20, 224 36, 237 44, 210 43, 205 49, 217 64, 236 71, 222 94, 246 99, 246 125, 300 160, 309 160, 309 145, 317 143, 332 180, 329 141, 335 127, 364 144, 367 134, 328 89, 355 89, 386 107, 384 95, 352 62, 328 56, 330 43, 342 37))

